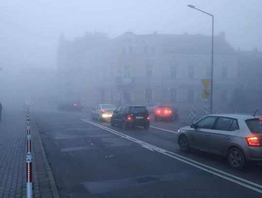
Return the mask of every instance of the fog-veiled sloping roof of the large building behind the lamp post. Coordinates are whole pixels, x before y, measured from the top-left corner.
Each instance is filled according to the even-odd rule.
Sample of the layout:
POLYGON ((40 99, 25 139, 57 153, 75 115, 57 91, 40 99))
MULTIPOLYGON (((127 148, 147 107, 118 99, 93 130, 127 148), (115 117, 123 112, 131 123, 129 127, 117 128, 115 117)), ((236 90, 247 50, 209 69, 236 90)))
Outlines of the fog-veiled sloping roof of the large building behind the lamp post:
MULTIPOLYGON (((135 35, 126 32, 115 39, 134 39, 140 38, 147 41, 152 39, 162 40, 164 54, 211 54, 212 36, 201 34, 147 34, 135 35)), ((214 54, 237 55, 237 51, 225 39, 225 33, 214 36, 214 54)))

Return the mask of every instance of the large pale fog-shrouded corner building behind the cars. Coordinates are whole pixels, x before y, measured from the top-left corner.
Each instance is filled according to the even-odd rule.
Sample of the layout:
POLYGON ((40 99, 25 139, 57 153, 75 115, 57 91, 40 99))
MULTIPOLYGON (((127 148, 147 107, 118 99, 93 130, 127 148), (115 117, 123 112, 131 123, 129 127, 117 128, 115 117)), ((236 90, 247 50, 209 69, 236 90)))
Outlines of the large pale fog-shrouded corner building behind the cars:
MULTIPOLYGON (((84 103, 160 102, 180 109, 203 109, 201 79, 211 77, 211 36, 127 32, 93 41, 92 47, 86 45, 89 47, 78 51, 77 58, 68 54, 64 57, 70 61, 63 55, 58 58, 58 70, 67 70, 67 88, 72 86, 84 103)), ((237 86, 237 63, 237 52, 225 34, 214 36, 214 109, 229 108, 237 86)), ((73 92, 68 89, 71 95, 73 92)))

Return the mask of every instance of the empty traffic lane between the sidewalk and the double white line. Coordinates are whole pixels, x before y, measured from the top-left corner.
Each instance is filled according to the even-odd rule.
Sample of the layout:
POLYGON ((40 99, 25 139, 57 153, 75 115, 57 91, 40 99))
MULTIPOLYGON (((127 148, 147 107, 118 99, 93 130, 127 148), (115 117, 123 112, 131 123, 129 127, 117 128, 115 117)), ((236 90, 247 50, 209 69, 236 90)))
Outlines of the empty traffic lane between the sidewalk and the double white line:
POLYGON ((47 122, 38 119, 41 131, 49 131, 40 134, 61 197, 260 195, 93 125, 47 122))

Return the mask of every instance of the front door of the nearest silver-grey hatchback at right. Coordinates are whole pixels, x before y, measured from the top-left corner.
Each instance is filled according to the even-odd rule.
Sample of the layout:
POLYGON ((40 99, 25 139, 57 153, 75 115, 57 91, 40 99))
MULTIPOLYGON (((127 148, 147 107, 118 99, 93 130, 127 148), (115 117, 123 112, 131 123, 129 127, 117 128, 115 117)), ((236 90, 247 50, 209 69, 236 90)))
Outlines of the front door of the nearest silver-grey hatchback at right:
POLYGON ((217 116, 204 117, 195 124, 195 128, 187 131, 187 136, 191 147, 209 151, 210 134, 213 130, 212 127, 216 119, 217 116))

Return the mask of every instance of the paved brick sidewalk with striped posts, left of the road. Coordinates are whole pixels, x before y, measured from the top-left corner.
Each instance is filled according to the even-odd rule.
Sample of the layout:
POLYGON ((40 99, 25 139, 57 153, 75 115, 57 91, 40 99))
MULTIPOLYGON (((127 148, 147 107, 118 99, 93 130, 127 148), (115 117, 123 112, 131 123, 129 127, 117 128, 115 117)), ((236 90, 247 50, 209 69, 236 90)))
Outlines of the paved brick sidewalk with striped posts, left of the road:
MULTIPOLYGON (((58 198, 44 148, 31 118, 33 198, 58 198)), ((4 108, 0 122, 0 198, 26 198, 27 115, 4 108)))

